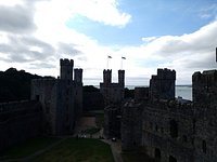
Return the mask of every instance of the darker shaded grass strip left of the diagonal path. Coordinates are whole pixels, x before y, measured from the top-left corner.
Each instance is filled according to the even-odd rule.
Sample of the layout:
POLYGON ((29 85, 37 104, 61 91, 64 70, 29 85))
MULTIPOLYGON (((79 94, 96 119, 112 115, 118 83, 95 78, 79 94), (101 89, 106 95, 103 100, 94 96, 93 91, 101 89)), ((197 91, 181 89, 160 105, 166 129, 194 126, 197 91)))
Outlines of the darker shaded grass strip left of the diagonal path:
POLYGON ((44 147, 48 147, 49 145, 58 140, 60 140, 60 138, 54 138, 54 137, 38 137, 38 138, 29 139, 22 145, 14 146, 5 150, 4 152, 1 152, 0 159, 25 158, 44 147))

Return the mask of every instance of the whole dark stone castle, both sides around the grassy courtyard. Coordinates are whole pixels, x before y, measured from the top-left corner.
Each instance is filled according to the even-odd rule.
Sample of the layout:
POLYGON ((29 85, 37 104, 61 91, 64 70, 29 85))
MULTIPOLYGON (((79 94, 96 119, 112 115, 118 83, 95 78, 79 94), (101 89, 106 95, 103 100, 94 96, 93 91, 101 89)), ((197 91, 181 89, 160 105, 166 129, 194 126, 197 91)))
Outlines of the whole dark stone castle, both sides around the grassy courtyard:
MULTIPOLYGON (((0 151, 39 135, 68 135, 82 113, 82 69, 61 59, 58 79, 31 81, 31 99, 0 104, 0 151), (73 76, 74 73, 74 76, 73 76)), ((176 71, 157 69, 125 100, 125 70, 103 71, 104 134, 123 151, 141 147, 161 162, 216 162, 217 70, 194 72, 193 100, 175 98, 176 71)))

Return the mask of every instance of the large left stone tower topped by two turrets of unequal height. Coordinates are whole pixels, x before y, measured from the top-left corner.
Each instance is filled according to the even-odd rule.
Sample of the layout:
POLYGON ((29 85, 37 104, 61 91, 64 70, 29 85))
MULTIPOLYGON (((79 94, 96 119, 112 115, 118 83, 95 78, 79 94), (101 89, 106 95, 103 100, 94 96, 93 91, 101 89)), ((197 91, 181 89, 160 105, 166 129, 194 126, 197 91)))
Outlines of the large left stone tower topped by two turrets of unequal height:
POLYGON ((82 112, 82 69, 74 69, 73 59, 60 66, 60 79, 31 81, 31 99, 41 103, 42 127, 51 135, 72 134, 82 112))

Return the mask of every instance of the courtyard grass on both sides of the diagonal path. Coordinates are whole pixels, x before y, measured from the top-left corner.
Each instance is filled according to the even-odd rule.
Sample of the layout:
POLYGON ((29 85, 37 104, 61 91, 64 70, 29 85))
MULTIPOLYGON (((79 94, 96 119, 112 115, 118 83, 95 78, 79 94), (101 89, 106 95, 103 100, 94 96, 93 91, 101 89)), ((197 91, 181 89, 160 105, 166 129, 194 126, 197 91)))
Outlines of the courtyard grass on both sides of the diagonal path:
MULTIPOLYGON (((35 138, 27 143, 10 148, 0 154, 0 161, 20 159, 44 149, 60 138, 35 138)), ((35 157, 33 162, 114 162, 110 145, 89 138, 66 138, 50 150, 35 157)))

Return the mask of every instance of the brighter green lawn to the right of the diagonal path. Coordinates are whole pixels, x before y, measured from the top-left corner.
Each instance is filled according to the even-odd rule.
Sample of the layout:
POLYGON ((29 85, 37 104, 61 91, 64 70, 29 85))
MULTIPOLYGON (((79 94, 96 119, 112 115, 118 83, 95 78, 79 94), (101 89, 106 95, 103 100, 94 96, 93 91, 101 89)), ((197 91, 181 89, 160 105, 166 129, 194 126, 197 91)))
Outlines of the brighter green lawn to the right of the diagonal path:
POLYGON ((114 162, 107 144, 88 138, 68 138, 31 161, 114 162))

